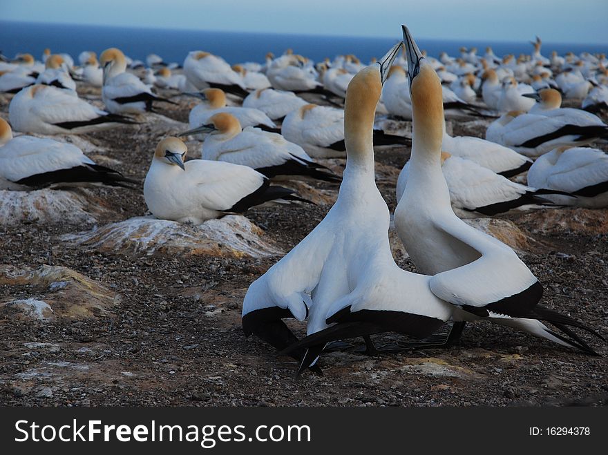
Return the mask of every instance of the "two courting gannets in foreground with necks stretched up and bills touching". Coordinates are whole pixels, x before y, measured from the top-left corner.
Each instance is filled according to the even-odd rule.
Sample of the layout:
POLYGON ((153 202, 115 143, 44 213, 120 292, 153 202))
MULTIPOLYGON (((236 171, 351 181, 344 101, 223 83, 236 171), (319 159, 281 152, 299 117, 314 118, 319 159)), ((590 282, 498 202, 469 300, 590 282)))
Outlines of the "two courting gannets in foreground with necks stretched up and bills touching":
MULTIPOLYGON (((371 66, 354 77, 347 92, 348 161, 339 198, 307 238, 251 284, 243 302, 245 334, 255 333, 277 349, 301 357, 298 373, 314 365, 329 341, 380 331, 422 338, 449 318, 488 318, 593 353, 565 327, 585 326, 536 307, 542 287, 513 250, 464 224, 451 211, 439 159, 439 79, 406 28, 404 37, 415 115, 416 173, 408 180, 413 188, 399 202, 395 220, 399 217, 399 234, 407 236, 406 247, 415 251, 412 258, 419 269, 435 269, 432 273, 437 275, 408 273, 392 260, 388 209, 373 173, 372 125, 382 77, 378 81, 378 67, 371 66), (370 88, 374 83, 375 90, 370 88), (425 199, 433 204, 420 204, 425 199), (306 316, 308 336, 297 342, 281 319, 306 316), (566 335, 539 319, 551 321, 566 335)), ((380 70, 383 74, 386 68, 381 65, 380 70)))

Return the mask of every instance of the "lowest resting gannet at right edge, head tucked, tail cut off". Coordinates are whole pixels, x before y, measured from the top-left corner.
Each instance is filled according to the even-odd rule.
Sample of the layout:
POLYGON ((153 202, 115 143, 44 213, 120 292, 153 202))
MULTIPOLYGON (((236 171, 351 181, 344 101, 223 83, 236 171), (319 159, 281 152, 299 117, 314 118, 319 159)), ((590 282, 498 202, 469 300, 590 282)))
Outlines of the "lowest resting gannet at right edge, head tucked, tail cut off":
POLYGON ((555 148, 534 162, 528 171, 528 183, 576 196, 547 196, 555 204, 607 207, 608 155, 598 148, 555 148))

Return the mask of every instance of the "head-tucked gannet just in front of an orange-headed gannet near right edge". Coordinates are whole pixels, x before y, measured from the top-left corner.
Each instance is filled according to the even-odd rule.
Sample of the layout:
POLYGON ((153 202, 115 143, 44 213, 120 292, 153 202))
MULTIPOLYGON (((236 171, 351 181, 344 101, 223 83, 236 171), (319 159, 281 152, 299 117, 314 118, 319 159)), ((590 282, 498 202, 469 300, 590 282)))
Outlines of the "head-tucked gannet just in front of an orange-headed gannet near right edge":
POLYGON ((608 137, 608 126, 585 110, 559 108, 540 114, 513 111, 488 126, 486 139, 529 157, 540 156, 558 146, 589 144, 608 137))

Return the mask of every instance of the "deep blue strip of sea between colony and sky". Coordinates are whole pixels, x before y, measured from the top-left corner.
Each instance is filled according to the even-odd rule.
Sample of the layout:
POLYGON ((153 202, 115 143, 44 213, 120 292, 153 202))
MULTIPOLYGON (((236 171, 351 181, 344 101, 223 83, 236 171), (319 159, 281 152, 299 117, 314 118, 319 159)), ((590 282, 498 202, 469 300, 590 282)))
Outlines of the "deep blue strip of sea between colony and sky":
MULTIPOLYGON (((274 35, 270 33, 217 32, 204 30, 167 30, 153 28, 120 28, 101 26, 79 26, 72 24, 46 24, 0 21, 0 50, 8 57, 18 52, 29 52, 39 59, 44 48, 52 52, 67 52, 74 59, 83 50, 94 50, 99 55, 104 49, 117 47, 132 59, 145 58, 150 53, 160 55, 164 61, 180 64, 191 50, 205 50, 220 55, 230 64, 243 61, 263 62, 266 52, 281 55, 287 48, 305 55, 314 61, 339 54, 355 54, 363 62, 372 57, 381 57, 399 39, 369 37, 332 37, 316 35, 274 35)), ((533 37, 531 37, 533 39, 533 37)), ((486 46, 492 46, 498 56, 520 53, 529 54, 529 42, 496 41, 449 41, 417 39, 419 47, 429 55, 438 57, 442 51, 459 55, 460 46, 477 47, 483 55, 486 46)), ((566 52, 607 52, 607 44, 543 43, 545 56, 557 50, 566 52)))

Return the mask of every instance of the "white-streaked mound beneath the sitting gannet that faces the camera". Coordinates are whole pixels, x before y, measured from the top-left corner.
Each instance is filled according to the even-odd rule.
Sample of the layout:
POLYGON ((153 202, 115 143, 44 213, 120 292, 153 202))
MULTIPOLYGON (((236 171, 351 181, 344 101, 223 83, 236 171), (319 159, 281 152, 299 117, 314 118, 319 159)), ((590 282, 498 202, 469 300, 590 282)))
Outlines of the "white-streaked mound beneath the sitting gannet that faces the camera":
POLYGON ((162 253, 263 258, 283 251, 261 238, 263 231, 241 215, 227 215, 202 224, 133 217, 91 231, 67 234, 61 240, 104 253, 162 253))

